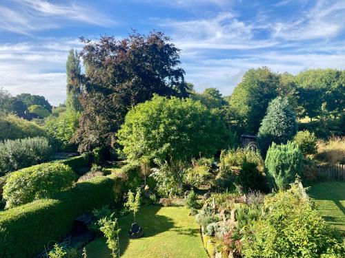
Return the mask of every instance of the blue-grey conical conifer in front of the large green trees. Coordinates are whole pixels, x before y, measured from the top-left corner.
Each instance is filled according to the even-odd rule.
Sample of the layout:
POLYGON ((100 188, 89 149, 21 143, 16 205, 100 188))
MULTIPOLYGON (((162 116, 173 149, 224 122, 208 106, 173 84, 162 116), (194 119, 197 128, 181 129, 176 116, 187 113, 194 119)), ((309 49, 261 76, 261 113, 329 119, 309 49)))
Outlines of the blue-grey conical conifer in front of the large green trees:
POLYGON ((266 116, 262 120, 257 134, 257 143, 263 157, 265 157, 272 142, 286 144, 288 140, 292 140, 296 133, 295 111, 291 109, 287 98, 275 98, 268 105, 266 116))

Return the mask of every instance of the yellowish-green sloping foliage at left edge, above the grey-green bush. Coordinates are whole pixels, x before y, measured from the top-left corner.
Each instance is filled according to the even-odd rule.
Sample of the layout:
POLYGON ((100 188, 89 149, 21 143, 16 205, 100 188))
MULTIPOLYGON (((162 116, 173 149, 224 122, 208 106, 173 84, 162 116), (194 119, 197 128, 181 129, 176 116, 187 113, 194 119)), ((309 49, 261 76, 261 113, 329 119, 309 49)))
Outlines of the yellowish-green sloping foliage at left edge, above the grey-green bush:
POLYGON ((28 137, 46 137, 46 131, 34 122, 9 115, 0 116, 0 140, 15 140, 28 137))

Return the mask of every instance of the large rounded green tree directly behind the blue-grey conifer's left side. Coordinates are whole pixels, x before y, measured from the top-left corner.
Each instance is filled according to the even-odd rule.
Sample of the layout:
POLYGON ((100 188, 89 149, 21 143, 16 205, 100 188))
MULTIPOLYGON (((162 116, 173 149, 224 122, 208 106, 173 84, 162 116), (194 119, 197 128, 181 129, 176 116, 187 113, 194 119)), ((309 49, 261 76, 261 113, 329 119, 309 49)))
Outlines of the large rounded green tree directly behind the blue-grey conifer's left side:
POLYGON ((230 98, 230 124, 239 131, 257 133, 268 103, 277 96, 279 75, 260 67, 249 69, 230 98))

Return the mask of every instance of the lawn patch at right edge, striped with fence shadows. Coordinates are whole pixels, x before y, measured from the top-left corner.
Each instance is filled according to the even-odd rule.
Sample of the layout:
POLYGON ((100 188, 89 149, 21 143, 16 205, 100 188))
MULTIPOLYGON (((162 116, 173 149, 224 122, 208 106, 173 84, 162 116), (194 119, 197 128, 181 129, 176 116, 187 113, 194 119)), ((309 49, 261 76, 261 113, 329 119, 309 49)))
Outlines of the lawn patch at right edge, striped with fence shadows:
POLYGON ((322 182, 308 191, 322 217, 345 232, 345 182, 322 182))

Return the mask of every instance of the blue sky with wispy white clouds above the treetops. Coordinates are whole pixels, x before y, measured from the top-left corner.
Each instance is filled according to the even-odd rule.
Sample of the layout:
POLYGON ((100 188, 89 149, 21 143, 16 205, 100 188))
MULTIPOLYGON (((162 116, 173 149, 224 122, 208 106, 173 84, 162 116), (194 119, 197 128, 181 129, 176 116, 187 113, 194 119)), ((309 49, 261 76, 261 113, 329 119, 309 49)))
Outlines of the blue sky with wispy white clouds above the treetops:
POLYGON ((186 80, 226 96, 250 68, 345 69, 344 0, 0 0, 0 87, 66 100, 79 37, 151 30, 181 50, 186 80))

